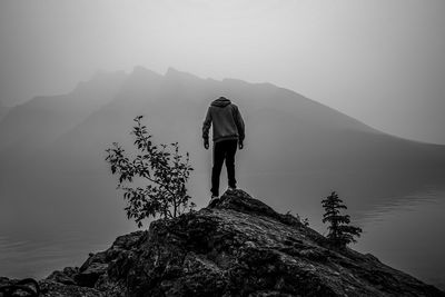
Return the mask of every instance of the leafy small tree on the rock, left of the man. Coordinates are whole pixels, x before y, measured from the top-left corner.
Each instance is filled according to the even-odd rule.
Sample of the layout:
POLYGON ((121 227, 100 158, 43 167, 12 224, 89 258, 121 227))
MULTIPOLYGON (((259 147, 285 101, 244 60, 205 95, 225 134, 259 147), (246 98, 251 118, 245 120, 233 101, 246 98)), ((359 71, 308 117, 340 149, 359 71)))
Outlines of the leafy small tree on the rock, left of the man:
POLYGON ((189 204, 190 196, 186 189, 190 171, 194 170, 189 165, 189 154, 181 156, 178 142, 169 146, 154 145, 152 136, 141 125, 141 119, 142 116, 134 119, 136 126, 131 131, 139 151, 135 158, 127 157, 117 142, 106 150, 106 161, 110 165, 111 172, 119 177, 118 189, 123 190, 123 199, 127 200, 127 217, 135 218, 138 227, 150 216, 174 218, 195 207, 194 202, 189 204), (129 186, 137 178, 145 179, 148 185, 129 186))

